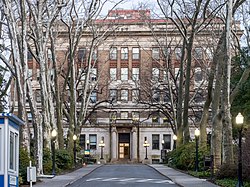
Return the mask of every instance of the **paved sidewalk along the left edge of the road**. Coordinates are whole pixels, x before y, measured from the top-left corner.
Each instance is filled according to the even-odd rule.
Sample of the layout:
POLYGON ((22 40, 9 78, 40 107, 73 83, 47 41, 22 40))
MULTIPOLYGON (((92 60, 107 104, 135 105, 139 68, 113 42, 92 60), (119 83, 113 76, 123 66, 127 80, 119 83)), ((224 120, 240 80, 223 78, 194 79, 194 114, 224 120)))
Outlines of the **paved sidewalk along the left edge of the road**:
POLYGON ((71 173, 67 173, 65 175, 58 175, 52 179, 43 178, 40 179, 41 182, 37 182, 33 184, 34 187, 65 187, 74 181, 82 178, 83 176, 91 173, 96 168, 101 167, 102 165, 87 165, 86 167, 82 167, 78 170, 75 170, 71 173))

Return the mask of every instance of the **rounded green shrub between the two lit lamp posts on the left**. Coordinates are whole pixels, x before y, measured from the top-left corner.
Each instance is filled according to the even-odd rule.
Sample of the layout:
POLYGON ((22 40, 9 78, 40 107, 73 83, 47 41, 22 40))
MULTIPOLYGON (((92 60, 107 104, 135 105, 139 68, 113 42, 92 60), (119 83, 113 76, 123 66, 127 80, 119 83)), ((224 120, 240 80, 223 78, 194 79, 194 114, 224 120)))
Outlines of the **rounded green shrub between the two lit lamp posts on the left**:
POLYGON ((71 169, 73 166, 73 153, 69 153, 65 149, 56 150, 56 166, 61 170, 71 169))

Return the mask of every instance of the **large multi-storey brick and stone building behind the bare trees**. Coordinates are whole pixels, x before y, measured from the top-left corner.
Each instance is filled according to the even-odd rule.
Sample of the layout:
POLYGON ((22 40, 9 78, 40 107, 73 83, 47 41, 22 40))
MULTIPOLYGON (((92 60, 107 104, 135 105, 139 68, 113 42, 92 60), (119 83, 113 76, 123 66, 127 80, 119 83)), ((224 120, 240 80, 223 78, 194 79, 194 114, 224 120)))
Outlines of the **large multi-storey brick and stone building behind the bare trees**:
MULTIPOLYGON (((96 63, 90 81, 98 86, 92 90, 88 108, 91 110, 101 101, 108 102, 100 104, 82 126, 79 135, 82 152, 90 150, 91 156, 100 160, 103 150, 104 160, 111 162, 144 162, 146 154, 148 162, 161 162, 162 153, 174 148, 171 122, 176 111, 171 110, 170 103, 176 105, 177 100, 173 93, 178 87, 182 37, 170 20, 151 19, 149 10, 112 10, 105 20, 95 23, 103 30, 112 23, 116 29, 96 46, 92 55, 96 63)), ((190 88, 191 137, 202 114, 206 77, 218 40, 216 33, 223 27, 223 23, 218 23, 196 36, 190 88)), ((61 36, 57 52, 64 58, 67 46, 61 36)), ((78 45, 76 74, 80 80, 85 79, 79 75, 83 72, 82 64, 86 63, 90 37, 84 35, 78 45)), ((37 68, 29 66, 29 71, 36 72, 31 77, 33 87, 38 89, 37 68)), ((37 101, 39 98, 37 95, 37 101)), ((64 130, 67 134, 67 124, 64 130)))

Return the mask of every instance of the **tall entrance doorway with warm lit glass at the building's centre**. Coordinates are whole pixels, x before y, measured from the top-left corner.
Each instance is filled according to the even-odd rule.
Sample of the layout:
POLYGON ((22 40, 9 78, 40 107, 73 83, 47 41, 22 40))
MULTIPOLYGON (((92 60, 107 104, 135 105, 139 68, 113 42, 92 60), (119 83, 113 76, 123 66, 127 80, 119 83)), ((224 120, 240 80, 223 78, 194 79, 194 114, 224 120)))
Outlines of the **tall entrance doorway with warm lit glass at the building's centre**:
POLYGON ((119 133, 119 159, 130 159, 130 134, 119 133))

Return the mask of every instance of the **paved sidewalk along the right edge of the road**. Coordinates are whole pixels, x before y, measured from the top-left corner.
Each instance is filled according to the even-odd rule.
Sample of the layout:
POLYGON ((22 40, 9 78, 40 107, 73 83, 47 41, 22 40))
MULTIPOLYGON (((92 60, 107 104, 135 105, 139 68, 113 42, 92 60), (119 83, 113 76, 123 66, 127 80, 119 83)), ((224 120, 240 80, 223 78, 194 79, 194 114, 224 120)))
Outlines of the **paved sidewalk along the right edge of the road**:
POLYGON ((165 165, 151 164, 149 166, 171 179, 174 183, 183 187, 218 187, 206 179, 193 177, 165 165))

